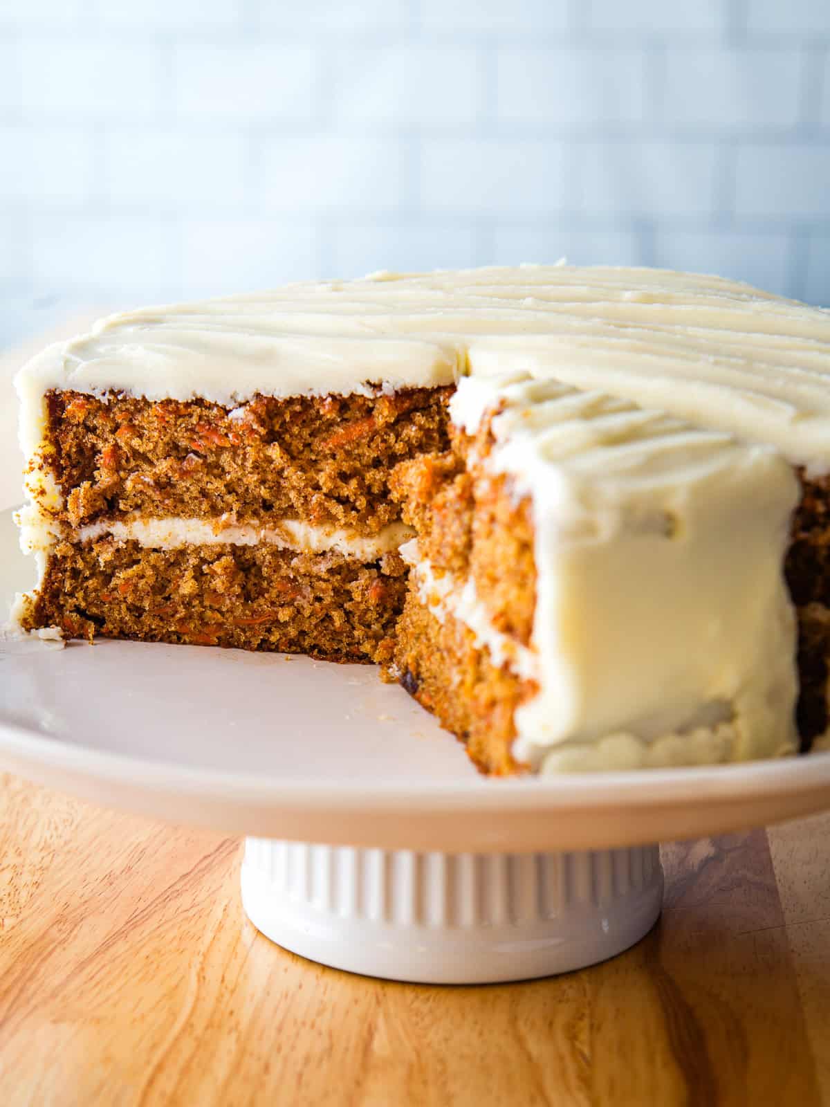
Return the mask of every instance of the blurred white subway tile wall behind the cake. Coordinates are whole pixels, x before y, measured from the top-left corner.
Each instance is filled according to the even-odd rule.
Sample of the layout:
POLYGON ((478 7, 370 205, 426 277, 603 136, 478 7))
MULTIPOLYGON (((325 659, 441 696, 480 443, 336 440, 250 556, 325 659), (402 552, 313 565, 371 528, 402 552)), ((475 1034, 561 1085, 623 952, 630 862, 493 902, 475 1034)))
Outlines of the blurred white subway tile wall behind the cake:
POLYGON ((0 0, 0 346, 491 262, 830 303, 830 0, 0 0))

